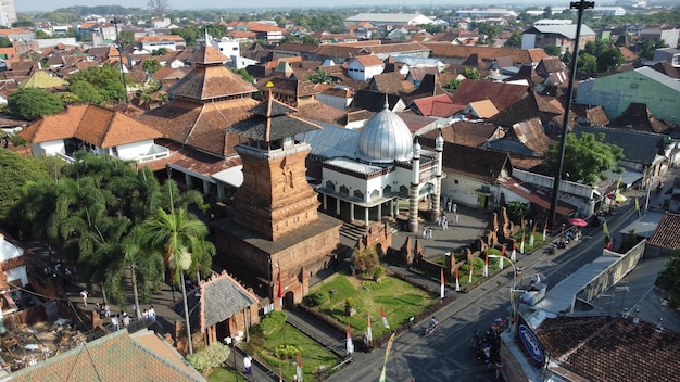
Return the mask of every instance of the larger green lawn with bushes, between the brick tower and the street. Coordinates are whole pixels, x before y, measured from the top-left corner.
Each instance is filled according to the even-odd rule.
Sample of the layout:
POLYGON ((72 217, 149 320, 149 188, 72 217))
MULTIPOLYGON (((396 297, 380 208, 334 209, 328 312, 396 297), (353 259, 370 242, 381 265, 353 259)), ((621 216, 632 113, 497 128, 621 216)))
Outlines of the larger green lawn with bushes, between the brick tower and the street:
POLYGON ((343 326, 349 322, 355 336, 366 331, 369 316, 374 339, 390 332, 382 326, 380 307, 385 309, 388 323, 394 329, 439 301, 438 295, 389 276, 377 283, 373 280, 362 280, 361 277, 337 273, 311 288, 310 294, 318 290, 324 290, 330 295, 330 300, 317 307, 320 313, 343 326), (353 317, 347 316, 344 311, 347 297, 352 297, 355 302, 356 314, 353 317))

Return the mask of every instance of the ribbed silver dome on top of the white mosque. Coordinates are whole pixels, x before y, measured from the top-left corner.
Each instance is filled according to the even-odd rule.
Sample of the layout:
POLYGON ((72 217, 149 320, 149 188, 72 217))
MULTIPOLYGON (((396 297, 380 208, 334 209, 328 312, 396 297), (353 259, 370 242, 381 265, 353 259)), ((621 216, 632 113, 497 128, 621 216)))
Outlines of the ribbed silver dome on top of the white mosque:
POLYGON ((368 162, 407 161, 412 149, 413 138, 408 127, 387 107, 368 119, 358 136, 360 158, 368 162))

